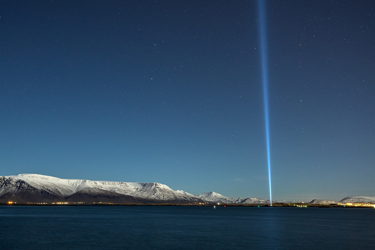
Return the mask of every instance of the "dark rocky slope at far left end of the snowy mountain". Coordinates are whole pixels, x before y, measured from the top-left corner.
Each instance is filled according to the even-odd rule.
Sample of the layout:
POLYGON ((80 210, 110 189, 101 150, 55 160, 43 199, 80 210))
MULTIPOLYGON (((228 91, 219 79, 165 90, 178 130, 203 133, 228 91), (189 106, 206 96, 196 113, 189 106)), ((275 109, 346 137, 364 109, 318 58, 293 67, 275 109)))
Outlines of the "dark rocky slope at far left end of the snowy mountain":
POLYGON ((0 178, 0 202, 9 201, 18 203, 50 203, 63 199, 52 192, 36 189, 26 181, 13 178, 0 178))

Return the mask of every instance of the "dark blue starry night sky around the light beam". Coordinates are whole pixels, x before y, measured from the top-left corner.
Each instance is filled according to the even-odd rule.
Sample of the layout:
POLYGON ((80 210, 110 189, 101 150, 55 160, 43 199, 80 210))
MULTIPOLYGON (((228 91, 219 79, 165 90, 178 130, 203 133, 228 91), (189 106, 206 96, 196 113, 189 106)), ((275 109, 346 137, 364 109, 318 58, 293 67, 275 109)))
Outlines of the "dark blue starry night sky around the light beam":
MULTIPOLYGON (((273 200, 375 196, 375 4, 265 1, 273 200)), ((269 199, 257 1, 0 1, 0 175, 269 199)))

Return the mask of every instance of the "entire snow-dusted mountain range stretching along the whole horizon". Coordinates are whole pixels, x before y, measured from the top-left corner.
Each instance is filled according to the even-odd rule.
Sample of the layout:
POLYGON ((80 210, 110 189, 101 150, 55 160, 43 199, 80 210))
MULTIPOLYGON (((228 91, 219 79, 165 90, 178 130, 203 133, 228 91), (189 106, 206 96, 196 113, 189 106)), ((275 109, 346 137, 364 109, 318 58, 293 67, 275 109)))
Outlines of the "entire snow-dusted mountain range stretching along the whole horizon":
MULTIPOLYGON (((60 179, 40 174, 0 176, 0 203, 106 202, 125 204, 270 204, 261 198, 229 198, 216 192, 192 195, 160 183, 60 179)), ((277 201, 281 203, 294 203, 277 201)), ((272 203, 276 203, 272 201, 272 203)), ((309 204, 370 203, 375 196, 351 196, 339 202, 314 199, 309 204)))

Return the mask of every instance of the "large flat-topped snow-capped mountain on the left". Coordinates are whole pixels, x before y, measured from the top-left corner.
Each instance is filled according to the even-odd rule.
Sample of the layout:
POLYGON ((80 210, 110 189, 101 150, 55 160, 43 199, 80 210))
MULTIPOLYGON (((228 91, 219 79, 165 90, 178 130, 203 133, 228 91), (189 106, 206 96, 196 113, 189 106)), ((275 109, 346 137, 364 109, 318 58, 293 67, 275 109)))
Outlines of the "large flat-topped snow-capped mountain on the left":
POLYGON ((160 183, 129 183, 60 179, 39 174, 0 177, 0 201, 57 202, 113 200, 124 203, 186 203, 204 202, 183 192, 174 191, 160 183))

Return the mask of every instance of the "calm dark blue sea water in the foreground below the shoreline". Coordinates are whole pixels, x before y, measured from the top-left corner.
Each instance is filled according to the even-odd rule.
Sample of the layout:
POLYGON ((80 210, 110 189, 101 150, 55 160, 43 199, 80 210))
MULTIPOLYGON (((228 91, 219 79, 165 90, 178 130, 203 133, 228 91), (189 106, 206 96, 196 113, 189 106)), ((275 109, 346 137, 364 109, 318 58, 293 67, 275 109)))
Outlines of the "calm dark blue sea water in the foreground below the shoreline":
POLYGON ((0 206, 0 249, 374 247, 374 208, 0 206))

